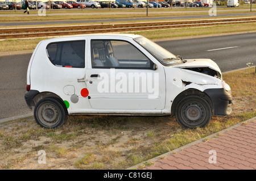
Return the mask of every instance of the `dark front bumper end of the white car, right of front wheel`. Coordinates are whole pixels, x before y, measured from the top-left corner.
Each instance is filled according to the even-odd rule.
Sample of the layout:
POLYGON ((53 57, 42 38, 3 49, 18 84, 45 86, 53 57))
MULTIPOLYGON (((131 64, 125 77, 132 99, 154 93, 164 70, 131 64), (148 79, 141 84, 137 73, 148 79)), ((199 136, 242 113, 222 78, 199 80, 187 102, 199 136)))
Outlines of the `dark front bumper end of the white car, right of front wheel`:
POLYGON ((204 91, 213 103, 213 115, 228 116, 232 112, 231 91, 225 89, 207 89, 204 91))

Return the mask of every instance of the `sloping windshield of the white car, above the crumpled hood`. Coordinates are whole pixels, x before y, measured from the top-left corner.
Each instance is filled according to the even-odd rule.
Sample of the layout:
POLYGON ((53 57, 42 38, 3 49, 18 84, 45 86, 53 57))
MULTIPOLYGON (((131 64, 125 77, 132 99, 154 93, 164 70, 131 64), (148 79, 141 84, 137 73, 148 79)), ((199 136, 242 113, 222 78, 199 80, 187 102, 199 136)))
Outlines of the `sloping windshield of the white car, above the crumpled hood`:
POLYGON ((158 44, 154 43, 151 40, 148 40, 146 37, 137 37, 134 39, 138 44, 142 45, 148 52, 152 54, 158 61, 163 65, 172 66, 177 64, 182 64, 184 61, 177 58, 174 54, 168 52, 163 47, 160 47, 158 44))

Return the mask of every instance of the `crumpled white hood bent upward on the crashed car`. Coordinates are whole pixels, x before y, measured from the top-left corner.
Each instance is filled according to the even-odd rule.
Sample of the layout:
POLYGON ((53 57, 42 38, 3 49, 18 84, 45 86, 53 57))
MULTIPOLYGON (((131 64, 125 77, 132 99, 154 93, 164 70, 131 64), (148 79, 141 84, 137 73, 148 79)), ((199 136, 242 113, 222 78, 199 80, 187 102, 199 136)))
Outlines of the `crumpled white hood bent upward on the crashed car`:
POLYGON ((210 59, 186 59, 184 64, 175 65, 178 68, 210 68, 221 74, 221 70, 218 65, 210 59))

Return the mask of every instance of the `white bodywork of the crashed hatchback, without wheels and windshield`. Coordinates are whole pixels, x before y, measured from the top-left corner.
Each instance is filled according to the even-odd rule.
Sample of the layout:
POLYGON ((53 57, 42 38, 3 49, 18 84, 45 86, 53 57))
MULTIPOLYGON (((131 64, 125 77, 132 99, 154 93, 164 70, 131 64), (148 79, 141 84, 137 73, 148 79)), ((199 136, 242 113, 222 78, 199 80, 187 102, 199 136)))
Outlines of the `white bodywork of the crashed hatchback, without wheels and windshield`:
MULTIPOLYGON (((212 95, 212 90, 223 89, 221 71, 215 62, 209 59, 192 59, 177 65, 164 66, 154 54, 135 41, 138 37, 141 36, 98 33, 40 41, 27 70, 27 85, 30 85, 31 91, 25 96, 28 106, 31 107, 30 102, 34 100, 31 96, 52 94, 68 103, 69 115, 171 115, 172 103, 187 90, 197 90, 202 94, 209 92, 216 104, 219 103, 212 95), (85 46, 82 53, 84 65, 76 67, 60 66, 57 62, 53 64, 52 61, 55 60, 51 60, 48 47, 74 42, 83 43, 85 46), (113 55, 119 56, 120 66, 94 65, 94 49, 106 53, 106 49, 101 50, 101 46, 112 47, 113 55), (136 54, 142 58, 133 59, 136 54), (209 68, 220 76, 193 71, 193 68, 209 68)), ((73 51, 73 56, 77 56, 73 47, 65 51, 64 58, 69 56, 68 51, 73 51)), ((106 58, 105 54, 104 57, 106 58)), ((75 58, 69 59, 75 61, 75 58)), ((99 55, 97 60, 103 61, 99 55)), ((222 91, 219 92, 221 95, 222 91)), ((228 93, 227 95, 231 96, 228 93)), ((223 101, 225 105, 229 105, 230 100, 223 101)), ((220 111, 216 114, 220 114, 220 111)))

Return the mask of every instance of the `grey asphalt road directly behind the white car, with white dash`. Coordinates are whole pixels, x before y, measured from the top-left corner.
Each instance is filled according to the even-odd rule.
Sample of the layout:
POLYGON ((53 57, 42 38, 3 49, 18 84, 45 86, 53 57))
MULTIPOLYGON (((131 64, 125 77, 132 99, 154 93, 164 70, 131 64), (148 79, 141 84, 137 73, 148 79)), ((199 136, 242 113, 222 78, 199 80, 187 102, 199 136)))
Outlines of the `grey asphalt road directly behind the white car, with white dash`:
MULTIPOLYGON (((210 58, 221 71, 256 63, 256 33, 214 36, 157 42, 170 52, 185 58, 210 58)), ((30 54, 0 56, 0 119, 32 113, 24 100, 30 54)))

